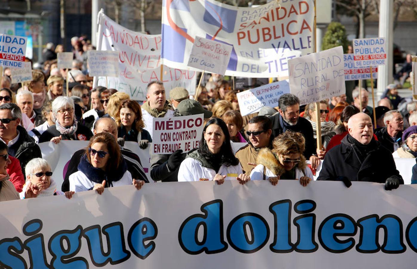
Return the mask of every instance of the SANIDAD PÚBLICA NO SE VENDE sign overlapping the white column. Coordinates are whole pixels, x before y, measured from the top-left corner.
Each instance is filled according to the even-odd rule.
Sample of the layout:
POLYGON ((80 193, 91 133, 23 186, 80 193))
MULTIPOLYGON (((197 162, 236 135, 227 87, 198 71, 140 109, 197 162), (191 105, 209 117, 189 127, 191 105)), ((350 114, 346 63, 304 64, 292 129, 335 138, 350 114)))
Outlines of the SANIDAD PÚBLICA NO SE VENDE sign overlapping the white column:
POLYGON ((383 37, 354 39, 353 53, 357 67, 387 64, 387 43, 383 37))

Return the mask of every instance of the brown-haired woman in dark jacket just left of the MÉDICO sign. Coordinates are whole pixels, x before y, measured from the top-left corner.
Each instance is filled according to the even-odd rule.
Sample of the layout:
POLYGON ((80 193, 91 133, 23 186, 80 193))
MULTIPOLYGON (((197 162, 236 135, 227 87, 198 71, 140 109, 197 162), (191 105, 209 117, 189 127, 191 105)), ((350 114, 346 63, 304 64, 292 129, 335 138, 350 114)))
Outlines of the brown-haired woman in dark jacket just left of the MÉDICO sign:
POLYGON ((142 119, 141 106, 133 100, 125 100, 119 105, 119 112, 116 115, 116 123, 119 127, 118 137, 125 141, 139 143, 139 147, 145 149, 149 142, 152 142, 151 135, 143 129, 145 124, 142 119))

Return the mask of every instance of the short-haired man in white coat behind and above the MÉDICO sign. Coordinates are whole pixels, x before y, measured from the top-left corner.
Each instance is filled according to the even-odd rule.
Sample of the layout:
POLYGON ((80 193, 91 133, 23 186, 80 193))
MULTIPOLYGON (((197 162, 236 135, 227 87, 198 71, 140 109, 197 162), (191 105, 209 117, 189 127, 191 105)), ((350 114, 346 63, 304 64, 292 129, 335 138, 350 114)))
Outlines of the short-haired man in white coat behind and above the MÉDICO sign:
POLYGON ((153 118, 172 117, 174 112, 171 105, 166 101, 165 88, 161 81, 151 81, 148 84, 147 101, 142 105, 142 119, 145 123, 145 130, 152 137, 153 118))

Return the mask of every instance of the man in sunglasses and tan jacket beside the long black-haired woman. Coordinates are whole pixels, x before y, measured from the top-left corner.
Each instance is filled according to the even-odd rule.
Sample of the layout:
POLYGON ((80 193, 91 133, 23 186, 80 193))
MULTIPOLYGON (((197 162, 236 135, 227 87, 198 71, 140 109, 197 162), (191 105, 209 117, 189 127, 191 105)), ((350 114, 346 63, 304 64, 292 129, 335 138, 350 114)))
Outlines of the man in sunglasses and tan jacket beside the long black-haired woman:
POLYGON ((249 175, 256 163, 256 157, 261 148, 270 147, 273 140, 271 120, 265 116, 256 116, 249 120, 248 131, 249 143, 236 152, 242 170, 249 175))

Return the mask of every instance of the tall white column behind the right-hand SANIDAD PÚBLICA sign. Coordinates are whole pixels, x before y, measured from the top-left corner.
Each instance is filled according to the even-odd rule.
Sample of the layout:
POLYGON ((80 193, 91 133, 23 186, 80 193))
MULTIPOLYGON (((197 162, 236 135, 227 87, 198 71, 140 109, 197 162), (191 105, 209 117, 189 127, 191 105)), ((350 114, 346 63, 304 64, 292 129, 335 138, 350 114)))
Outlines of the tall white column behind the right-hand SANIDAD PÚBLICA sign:
POLYGON ((379 3, 379 37, 387 40, 387 65, 378 66, 377 96, 379 97, 388 84, 392 83, 393 55, 392 44, 394 39, 393 28, 393 1, 381 0, 379 3))

